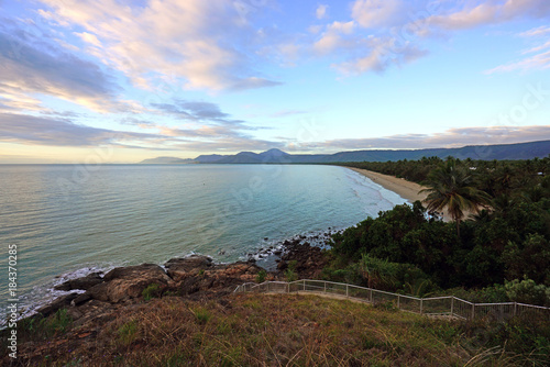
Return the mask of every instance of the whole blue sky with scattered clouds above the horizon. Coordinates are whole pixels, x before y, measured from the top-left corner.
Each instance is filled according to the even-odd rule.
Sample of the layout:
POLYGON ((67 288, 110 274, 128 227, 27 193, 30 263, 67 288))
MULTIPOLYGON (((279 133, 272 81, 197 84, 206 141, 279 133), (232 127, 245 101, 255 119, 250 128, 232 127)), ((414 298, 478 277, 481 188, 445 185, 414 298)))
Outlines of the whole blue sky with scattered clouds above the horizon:
POLYGON ((548 0, 0 0, 0 164, 542 140, 548 0))

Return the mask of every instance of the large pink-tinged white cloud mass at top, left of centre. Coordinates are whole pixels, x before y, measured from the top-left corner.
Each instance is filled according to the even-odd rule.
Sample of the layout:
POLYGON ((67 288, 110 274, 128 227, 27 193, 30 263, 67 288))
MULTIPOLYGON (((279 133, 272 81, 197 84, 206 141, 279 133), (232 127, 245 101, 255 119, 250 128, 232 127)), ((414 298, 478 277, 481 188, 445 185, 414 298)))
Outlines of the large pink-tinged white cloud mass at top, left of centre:
MULTIPOLYGON (((86 30, 91 52, 151 89, 169 77, 189 89, 243 90, 279 82, 256 70, 251 20, 262 7, 229 0, 42 0, 42 13, 86 30), (101 43, 99 43, 101 40, 101 43)), ((82 36, 85 33, 81 33, 82 36)))

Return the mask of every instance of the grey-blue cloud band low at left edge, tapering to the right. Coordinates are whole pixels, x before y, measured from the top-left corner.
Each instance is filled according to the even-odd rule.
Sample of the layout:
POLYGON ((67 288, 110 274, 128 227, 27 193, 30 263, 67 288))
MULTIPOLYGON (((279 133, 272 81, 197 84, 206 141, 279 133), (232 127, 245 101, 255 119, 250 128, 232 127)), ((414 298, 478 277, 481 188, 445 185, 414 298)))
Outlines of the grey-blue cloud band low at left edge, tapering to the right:
POLYGON ((98 146, 121 141, 155 141, 165 136, 97 129, 65 118, 0 113, 0 142, 50 146, 98 146))

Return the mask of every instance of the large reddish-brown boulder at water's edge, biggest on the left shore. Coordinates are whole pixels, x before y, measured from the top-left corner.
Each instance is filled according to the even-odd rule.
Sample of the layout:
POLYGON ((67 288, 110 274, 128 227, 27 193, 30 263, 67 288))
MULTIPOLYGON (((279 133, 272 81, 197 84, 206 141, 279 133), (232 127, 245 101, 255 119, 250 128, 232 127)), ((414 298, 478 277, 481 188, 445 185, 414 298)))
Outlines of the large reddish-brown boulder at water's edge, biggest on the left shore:
POLYGON ((152 283, 162 288, 172 283, 164 269, 154 264, 114 268, 103 279, 103 282, 91 287, 86 293, 96 300, 111 303, 141 297, 143 290, 152 283))

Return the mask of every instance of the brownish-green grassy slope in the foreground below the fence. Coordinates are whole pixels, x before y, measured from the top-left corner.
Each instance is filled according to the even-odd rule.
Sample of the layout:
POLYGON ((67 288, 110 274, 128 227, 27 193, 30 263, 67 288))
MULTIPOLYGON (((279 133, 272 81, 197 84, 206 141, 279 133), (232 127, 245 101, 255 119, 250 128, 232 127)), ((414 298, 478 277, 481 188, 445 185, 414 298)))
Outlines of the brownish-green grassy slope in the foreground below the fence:
MULTIPOLYGON (((540 348, 509 352, 512 338, 492 345, 485 338, 510 330, 484 327, 315 296, 244 293, 223 302, 165 297, 119 312, 88 343, 50 347, 20 358, 18 366, 542 366, 546 360, 540 348)), ((85 332, 56 329, 47 343, 85 332)), ((37 345, 34 334, 26 334, 20 355, 37 345)))

